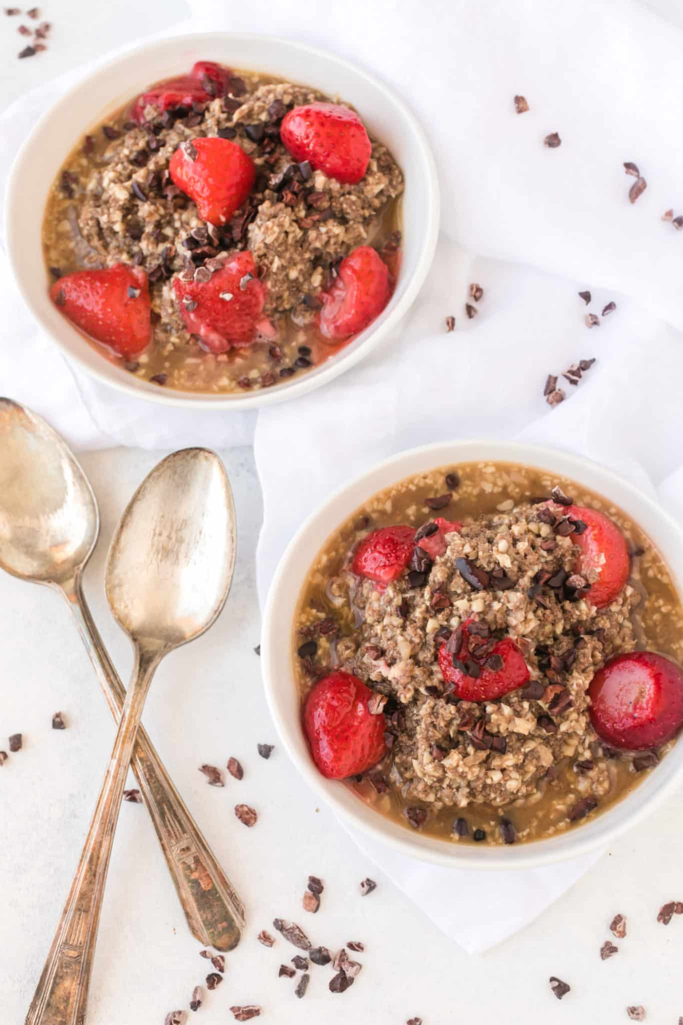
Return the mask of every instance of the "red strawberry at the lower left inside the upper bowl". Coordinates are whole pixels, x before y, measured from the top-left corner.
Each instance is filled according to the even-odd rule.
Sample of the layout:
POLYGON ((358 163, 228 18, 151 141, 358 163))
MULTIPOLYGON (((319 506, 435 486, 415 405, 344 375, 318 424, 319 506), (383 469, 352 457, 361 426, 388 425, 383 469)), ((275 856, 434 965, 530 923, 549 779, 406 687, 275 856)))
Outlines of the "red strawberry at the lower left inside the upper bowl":
POLYGON ((58 278, 50 296, 73 324, 119 356, 137 356, 150 342, 150 288, 139 266, 76 271, 58 278))

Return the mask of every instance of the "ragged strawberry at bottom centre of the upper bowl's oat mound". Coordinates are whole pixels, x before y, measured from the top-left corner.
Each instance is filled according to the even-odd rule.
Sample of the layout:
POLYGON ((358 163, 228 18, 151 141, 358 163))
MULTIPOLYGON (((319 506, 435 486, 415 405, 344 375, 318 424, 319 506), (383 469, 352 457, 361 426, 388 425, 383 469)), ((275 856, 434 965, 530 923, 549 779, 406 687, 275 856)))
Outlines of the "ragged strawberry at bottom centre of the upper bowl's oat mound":
POLYGON ((263 327, 266 287, 248 249, 232 253, 209 281, 176 277, 173 291, 185 327, 212 353, 248 345, 263 327))

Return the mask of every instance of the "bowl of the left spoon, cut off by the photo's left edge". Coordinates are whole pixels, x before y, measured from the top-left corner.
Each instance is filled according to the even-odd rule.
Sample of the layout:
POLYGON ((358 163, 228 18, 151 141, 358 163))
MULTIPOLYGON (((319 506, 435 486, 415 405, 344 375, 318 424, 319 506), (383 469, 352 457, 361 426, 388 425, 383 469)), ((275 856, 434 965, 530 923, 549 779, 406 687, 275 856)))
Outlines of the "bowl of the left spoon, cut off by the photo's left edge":
POLYGON ((0 568, 61 583, 88 561, 97 502, 68 446, 31 410, 0 398, 0 568))

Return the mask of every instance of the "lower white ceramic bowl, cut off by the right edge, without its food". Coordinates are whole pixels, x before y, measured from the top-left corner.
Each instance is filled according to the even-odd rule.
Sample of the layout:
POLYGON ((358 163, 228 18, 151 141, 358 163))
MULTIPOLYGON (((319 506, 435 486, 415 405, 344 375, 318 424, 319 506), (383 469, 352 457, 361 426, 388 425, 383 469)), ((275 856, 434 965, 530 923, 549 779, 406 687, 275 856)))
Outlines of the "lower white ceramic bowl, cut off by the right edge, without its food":
POLYGON ((261 663, 270 711, 281 738, 307 783, 349 824, 403 854, 440 865, 522 868, 572 858, 611 843, 648 815, 683 779, 683 743, 632 793, 594 820, 560 835, 514 847, 449 844, 414 832, 373 811, 343 783, 325 779, 310 756, 294 681, 291 637, 294 611, 308 569, 339 525, 372 495, 432 467, 479 459, 538 466, 567 477, 613 501, 643 528, 664 557, 681 592, 683 535, 678 525, 627 481, 596 463, 565 452, 517 442, 453 442, 411 449, 341 488, 303 524, 289 544, 270 585, 261 640, 261 663))

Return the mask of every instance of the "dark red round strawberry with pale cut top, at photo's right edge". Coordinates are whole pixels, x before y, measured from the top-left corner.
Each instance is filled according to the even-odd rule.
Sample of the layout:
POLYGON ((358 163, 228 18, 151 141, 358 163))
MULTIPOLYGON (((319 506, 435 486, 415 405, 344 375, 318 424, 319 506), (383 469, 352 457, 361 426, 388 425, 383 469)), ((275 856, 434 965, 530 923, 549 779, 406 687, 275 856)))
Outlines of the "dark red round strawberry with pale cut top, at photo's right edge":
POLYGON ((651 651, 615 655, 593 676, 593 729, 613 747, 658 747, 683 726, 683 672, 651 651))

